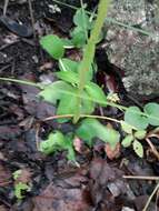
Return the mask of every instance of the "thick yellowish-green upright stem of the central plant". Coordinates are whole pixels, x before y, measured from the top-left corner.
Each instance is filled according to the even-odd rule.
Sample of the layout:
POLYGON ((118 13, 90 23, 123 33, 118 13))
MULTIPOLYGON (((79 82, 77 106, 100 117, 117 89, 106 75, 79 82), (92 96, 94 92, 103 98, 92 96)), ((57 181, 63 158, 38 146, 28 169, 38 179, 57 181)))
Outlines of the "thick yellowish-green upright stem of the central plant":
POLYGON ((110 0, 100 0, 99 2, 98 14, 95 22, 95 27, 91 31, 90 38, 88 40, 88 43, 83 52, 83 59, 79 67, 79 97, 77 99, 77 112, 73 118, 74 123, 77 123, 77 121, 80 118, 80 107, 81 107, 81 101, 82 101, 81 96, 82 96, 83 88, 86 86, 87 73, 90 70, 90 67, 93 62, 96 44, 97 44, 97 41, 99 39, 100 32, 105 22, 109 3, 110 3, 110 0))

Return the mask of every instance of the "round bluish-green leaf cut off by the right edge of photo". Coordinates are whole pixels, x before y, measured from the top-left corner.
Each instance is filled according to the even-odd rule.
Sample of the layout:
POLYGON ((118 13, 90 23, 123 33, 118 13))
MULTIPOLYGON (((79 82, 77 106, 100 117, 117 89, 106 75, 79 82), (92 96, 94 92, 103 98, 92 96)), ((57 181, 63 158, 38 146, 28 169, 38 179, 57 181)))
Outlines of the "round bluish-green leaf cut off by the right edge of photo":
POLYGON ((151 117, 148 117, 148 121, 151 125, 159 125, 159 104, 149 102, 145 105, 145 112, 151 117), (153 117, 153 118, 152 118, 153 117))

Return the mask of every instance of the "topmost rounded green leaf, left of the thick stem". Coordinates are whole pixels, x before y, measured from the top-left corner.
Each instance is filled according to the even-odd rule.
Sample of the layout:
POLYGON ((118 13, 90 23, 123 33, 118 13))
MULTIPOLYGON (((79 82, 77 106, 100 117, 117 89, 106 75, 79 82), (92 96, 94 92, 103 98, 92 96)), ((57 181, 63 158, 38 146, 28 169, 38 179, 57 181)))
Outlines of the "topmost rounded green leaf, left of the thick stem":
POLYGON ((89 21, 89 16, 86 13, 85 9, 80 8, 77 10, 73 17, 73 23, 83 31, 90 29, 91 22, 89 21))

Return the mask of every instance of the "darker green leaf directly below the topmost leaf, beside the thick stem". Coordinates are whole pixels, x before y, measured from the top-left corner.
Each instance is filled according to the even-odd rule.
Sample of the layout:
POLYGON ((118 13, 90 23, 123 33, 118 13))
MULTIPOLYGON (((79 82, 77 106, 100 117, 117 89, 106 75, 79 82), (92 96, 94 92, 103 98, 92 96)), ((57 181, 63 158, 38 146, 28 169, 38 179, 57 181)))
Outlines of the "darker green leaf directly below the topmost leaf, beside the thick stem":
POLYGON ((78 27, 76 27, 73 31, 71 32, 71 38, 72 38, 72 43, 77 48, 81 48, 86 44, 86 41, 87 41, 86 33, 83 30, 81 30, 78 27))

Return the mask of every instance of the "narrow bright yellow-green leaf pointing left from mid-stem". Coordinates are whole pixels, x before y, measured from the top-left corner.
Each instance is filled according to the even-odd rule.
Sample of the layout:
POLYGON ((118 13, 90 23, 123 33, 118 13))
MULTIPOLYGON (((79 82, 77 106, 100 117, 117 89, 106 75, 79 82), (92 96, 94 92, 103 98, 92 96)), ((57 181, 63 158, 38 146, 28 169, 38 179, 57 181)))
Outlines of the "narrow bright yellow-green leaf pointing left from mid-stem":
POLYGON ((60 71, 60 72, 56 72, 56 76, 69 83, 79 83, 79 76, 76 72, 72 71, 60 71))

